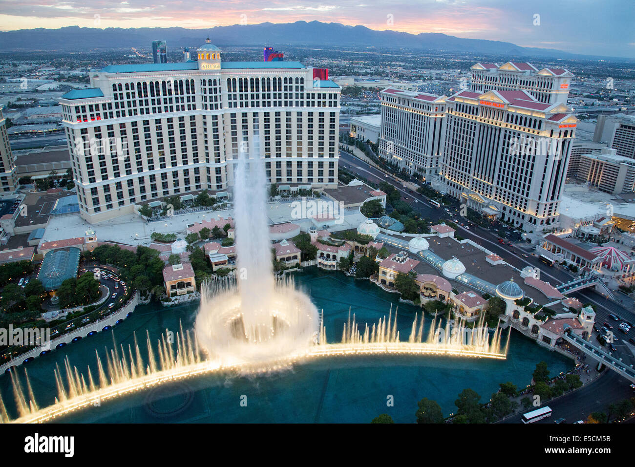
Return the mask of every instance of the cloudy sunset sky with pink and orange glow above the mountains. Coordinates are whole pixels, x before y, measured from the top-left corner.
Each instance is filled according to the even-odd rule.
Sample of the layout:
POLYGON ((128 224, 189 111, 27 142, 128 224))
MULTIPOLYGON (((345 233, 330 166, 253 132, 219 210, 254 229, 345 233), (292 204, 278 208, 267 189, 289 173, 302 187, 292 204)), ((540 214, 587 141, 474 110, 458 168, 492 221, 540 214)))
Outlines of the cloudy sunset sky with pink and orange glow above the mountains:
POLYGON ((635 57, 635 0, 0 0, 0 12, 0 30, 71 25, 211 29, 319 20, 635 57))

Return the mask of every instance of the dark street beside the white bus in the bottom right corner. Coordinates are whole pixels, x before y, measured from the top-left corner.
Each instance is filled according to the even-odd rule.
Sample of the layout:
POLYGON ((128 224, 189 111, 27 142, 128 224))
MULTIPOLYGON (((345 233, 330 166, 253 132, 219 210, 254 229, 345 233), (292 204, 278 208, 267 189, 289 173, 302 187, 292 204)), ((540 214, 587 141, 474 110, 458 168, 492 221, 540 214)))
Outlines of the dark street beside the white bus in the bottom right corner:
MULTIPOLYGON (((635 395, 635 391, 629 385, 630 383, 617 373, 605 370, 602 376, 577 391, 562 396, 558 400, 547 402, 553 411, 551 417, 534 423, 554 423, 559 418, 566 419, 566 423, 574 423, 578 420, 586 420, 592 412, 607 413, 606 407, 610 403, 635 395)), ((521 417, 522 414, 518 414, 500 423, 522 423, 521 417)))

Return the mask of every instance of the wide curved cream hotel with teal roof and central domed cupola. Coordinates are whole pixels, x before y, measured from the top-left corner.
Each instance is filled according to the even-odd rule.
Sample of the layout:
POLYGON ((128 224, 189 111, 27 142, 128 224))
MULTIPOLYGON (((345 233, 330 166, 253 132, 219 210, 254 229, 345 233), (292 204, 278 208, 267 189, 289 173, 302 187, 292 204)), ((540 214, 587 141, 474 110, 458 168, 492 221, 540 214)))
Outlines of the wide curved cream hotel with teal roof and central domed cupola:
POLYGON ((134 212, 157 198, 233 185, 239 152, 271 183, 337 187, 340 86, 298 62, 109 65, 60 98, 81 216, 134 212))

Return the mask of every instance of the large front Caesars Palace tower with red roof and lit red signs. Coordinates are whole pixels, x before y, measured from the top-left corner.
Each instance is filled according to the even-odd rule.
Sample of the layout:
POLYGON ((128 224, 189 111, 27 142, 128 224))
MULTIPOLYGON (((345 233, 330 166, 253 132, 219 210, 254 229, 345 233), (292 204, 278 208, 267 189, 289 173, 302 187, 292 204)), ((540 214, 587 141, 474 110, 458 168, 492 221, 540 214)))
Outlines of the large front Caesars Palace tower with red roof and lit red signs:
POLYGON ((441 175, 451 196, 526 231, 558 221, 577 119, 527 91, 460 91, 446 99, 441 175))

